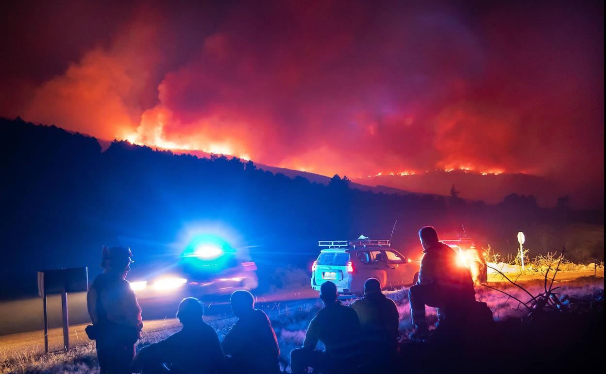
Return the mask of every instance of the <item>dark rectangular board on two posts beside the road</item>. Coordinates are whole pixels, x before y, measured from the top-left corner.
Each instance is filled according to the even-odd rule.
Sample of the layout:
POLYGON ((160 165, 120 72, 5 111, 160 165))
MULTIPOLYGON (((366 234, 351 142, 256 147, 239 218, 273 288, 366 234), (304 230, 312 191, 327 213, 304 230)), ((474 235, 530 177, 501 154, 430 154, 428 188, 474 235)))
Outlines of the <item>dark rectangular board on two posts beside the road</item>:
POLYGON ((42 297, 44 312, 44 352, 48 353, 48 316, 46 296, 61 293, 61 314, 63 319, 63 344, 70 349, 69 318, 67 314, 67 293, 88 291, 88 267, 71 269, 41 270, 38 272, 38 295, 42 297))

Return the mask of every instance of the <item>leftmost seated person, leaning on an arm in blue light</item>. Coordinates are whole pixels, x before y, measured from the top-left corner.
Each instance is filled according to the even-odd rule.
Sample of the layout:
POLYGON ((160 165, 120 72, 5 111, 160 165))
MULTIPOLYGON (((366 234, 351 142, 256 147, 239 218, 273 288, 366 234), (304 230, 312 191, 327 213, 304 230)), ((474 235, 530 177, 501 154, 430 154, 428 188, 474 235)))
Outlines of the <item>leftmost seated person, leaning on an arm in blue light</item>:
POLYGON ((215 329, 202 319, 202 304, 185 298, 179 304, 177 318, 183 328, 168 338, 141 349, 133 361, 133 372, 215 374, 222 370, 225 355, 215 329))

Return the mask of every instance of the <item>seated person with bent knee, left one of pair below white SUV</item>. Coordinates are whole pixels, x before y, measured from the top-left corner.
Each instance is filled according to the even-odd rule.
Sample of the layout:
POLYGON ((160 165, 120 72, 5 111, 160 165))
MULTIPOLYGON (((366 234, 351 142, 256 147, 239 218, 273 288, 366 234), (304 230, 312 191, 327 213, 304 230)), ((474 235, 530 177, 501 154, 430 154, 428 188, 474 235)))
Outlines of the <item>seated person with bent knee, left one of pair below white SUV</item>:
POLYGON ((307 367, 321 372, 355 370, 360 353, 358 314, 338 301, 333 282, 322 283, 320 299, 324 308, 311 319, 303 347, 290 352, 290 369, 293 373, 304 373, 307 367), (326 350, 316 350, 318 341, 324 343, 326 350))

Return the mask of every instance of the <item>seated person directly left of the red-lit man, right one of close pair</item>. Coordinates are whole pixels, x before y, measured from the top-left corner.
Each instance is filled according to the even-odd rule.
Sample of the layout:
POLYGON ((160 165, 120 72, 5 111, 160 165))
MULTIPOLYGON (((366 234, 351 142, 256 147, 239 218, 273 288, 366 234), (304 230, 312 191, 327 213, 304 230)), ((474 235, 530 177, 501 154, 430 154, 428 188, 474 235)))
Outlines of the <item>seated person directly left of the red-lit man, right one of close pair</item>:
POLYGON ((381 293, 379 279, 368 278, 364 282, 364 296, 351 303, 351 308, 360 319, 365 353, 373 358, 395 356, 400 315, 396 303, 381 293))

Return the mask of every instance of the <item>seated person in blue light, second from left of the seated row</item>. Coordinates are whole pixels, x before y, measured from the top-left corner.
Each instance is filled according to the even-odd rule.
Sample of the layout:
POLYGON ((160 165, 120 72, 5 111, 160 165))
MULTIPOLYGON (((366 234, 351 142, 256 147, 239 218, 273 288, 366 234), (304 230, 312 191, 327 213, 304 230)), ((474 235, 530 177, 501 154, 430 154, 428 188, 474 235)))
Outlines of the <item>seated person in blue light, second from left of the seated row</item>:
POLYGON ((248 291, 231 294, 231 311, 238 317, 221 345, 227 355, 228 373, 279 373, 280 349, 276 333, 265 312, 255 309, 255 298, 248 291))

